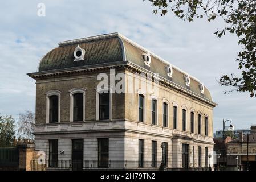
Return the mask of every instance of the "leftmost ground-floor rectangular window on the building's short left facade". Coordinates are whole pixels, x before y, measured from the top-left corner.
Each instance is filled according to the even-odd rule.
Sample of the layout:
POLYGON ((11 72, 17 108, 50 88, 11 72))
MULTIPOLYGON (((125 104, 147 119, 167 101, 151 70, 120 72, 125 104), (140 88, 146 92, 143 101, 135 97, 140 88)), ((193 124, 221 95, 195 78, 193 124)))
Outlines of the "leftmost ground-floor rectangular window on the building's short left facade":
POLYGON ((49 167, 58 167, 58 140, 49 140, 49 167))

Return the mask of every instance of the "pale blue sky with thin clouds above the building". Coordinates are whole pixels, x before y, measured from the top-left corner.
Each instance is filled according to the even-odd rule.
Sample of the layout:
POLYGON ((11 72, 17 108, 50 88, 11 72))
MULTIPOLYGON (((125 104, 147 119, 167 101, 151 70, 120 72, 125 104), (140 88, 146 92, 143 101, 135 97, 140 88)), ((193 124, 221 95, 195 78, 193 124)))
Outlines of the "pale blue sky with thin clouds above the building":
POLYGON ((255 98, 249 93, 224 94, 217 80, 237 71, 238 38, 222 30, 222 19, 184 22, 172 13, 152 14, 155 7, 143 0, 3 1, 0 7, 0 114, 35 110, 35 81, 26 73, 36 72, 42 56, 64 40, 119 32, 197 77, 210 90, 214 102, 214 131, 229 119, 235 129, 256 124, 255 98), (38 16, 44 3, 45 16, 38 16))

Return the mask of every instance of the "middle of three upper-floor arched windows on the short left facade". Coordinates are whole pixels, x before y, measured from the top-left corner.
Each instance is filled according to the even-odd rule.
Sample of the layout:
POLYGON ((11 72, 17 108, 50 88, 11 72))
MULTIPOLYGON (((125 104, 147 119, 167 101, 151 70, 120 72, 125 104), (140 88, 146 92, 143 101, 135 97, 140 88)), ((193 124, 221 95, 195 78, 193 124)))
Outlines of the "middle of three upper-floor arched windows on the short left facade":
POLYGON ((83 93, 73 94, 73 121, 83 121, 83 93))

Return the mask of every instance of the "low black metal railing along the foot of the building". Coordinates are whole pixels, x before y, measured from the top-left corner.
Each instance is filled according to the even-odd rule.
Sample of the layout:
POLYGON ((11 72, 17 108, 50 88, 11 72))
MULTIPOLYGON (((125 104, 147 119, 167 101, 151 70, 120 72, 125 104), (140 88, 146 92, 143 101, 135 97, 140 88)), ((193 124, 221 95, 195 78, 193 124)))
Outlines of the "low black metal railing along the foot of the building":
MULTIPOLYGON (((53 167, 49 166, 49 161, 31 160, 31 171, 50 171, 50 170, 67 170, 67 171, 82 171, 82 170, 158 170, 161 162, 152 163, 151 161, 144 161, 143 167, 139 167, 139 161, 130 160, 109 160, 100 163, 98 160, 58 160, 53 162, 53 167)), ((193 167, 193 168, 167 168, 172 171, 206 171, 207 167, 193 167)))

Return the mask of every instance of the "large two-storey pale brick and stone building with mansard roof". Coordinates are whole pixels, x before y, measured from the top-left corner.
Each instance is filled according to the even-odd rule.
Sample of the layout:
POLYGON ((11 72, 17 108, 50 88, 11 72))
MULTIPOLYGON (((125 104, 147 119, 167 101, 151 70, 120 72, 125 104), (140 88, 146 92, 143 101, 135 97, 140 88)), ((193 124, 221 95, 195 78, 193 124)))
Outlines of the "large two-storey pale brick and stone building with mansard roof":
POLYGON ((119 33, 60 42, 28 75, 36 80, 35 146, 49 167, 158 168, 162 156, 167 168, 209 165, 217 106, 209 90, 119 33), (104 78, 109 85, 99 86, 104 78))

